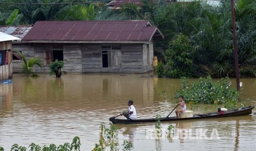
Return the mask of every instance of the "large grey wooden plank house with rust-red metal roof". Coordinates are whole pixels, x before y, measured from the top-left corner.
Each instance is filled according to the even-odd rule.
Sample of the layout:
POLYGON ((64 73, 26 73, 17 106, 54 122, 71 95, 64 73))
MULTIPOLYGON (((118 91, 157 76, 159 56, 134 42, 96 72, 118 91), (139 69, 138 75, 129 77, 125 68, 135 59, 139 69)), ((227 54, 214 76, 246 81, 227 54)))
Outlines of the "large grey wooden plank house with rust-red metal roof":
POLYGON ((24 36, 19 49, 38 57, 48 72, 51 61, 63 60, 63 71, 131 72, 152 71, 153 42, 164 36, 149 21, 37 21, 24 36), (25 48, 25 49, 24 49, 25 48))

